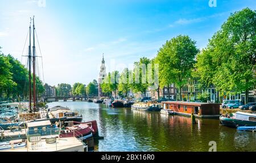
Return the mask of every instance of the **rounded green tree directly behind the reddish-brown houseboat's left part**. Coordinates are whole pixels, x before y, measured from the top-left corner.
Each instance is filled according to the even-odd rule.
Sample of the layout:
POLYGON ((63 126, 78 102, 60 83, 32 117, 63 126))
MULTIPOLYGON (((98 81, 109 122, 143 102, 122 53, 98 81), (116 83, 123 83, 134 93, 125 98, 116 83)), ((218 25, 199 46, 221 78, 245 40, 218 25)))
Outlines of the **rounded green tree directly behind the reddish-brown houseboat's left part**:
POLYGON ((197 53, 199 49, 196 48, 196 41, 191 40, 189 36, 179 35, 166 41, 156 56, 160 86, 167 85, 169 88, 174 83, 179 89, 180 100, 182 100, 182 88, 191 77, 197 53))

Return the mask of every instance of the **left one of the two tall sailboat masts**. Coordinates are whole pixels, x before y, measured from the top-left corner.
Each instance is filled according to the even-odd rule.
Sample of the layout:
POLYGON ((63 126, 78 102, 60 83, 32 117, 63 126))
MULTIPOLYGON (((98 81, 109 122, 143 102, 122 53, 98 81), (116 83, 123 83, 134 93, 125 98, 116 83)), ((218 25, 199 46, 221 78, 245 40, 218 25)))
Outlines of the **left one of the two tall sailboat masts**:
POLYGON ((31 18, 30 18, 30 45, 28 47, 28 85, 29 85, 29 94, 30 94, 30 112, 32 112, 32 93, 31 93, 31 18))

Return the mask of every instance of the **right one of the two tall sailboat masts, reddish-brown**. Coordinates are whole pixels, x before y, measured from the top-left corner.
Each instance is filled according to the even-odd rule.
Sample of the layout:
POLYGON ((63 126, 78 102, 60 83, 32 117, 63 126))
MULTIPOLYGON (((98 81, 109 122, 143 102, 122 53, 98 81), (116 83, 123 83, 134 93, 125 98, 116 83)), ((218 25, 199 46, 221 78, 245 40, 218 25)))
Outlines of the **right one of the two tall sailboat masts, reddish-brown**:
POLYGON ((34 99, 34 112, 36 110, 36 77, 35 77, 35 16, 33 17, 33 99, 34 99))

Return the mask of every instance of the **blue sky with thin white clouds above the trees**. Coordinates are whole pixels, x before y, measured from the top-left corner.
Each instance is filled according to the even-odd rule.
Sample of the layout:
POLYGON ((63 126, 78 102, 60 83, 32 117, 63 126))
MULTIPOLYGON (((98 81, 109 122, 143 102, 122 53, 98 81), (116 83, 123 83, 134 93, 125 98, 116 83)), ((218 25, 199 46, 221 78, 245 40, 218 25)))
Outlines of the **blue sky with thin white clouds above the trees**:
POLYGON ((208 2, 46 0, 39 5, 38 0, 0 0, 0 47, 25 64, 22 51, 35 15, 42 80, 87 84, 98 78, 102 53, 108 67, 113 60, 128 66, 140 57, 155 57, 166 40, 180 34, 201 49, 231 12, 256 9, 255 0, 217 0, 217 7, 208 2))

